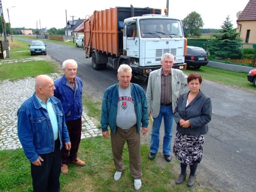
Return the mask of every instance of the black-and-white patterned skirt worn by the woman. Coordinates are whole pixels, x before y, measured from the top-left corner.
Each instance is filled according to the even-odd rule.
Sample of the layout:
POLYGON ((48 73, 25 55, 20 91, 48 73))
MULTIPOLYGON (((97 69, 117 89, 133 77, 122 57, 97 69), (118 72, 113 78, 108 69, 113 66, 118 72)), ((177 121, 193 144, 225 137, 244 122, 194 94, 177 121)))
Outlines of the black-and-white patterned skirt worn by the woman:
POLYGON ((204 148, 204 135, 191 136, 176 132, 173 154, 182 164, 200 163, 204 148))

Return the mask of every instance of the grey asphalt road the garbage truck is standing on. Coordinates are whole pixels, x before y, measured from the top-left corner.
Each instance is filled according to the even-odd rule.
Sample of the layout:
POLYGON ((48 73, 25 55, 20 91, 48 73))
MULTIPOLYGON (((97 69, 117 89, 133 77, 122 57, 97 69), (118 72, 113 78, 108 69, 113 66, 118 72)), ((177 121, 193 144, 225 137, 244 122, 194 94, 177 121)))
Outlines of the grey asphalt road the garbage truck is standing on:
MULTIPOLYGON (((115 70, 94 70, 91 59, 85 58, 84 50, 49 42, 45 44, 47 54, 56 61, 76 60, 77 76, 84 81, 85 92, 87 89, 95 99, 101 101, 106 88, 118 82, 115 70)), ((146 91, 147 81, 135 82, 146 91)), ((198 166, 197 179, 212 191, 255 191, 256 92, 206 80, 203 80, 201 90, 211 97, 212 120, 205 136, 203 160, 198 166)), ((149 141, 150 134, 147 135, 146 140, 149 141)))

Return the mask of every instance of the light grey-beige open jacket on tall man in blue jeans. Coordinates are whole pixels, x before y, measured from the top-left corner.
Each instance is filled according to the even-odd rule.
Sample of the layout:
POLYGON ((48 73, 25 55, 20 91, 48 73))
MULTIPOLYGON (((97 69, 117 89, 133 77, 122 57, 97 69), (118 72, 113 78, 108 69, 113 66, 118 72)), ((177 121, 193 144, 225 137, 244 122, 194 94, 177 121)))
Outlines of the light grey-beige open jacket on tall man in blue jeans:
MULTIPOLYGON (((162 68, 149 74, 148 88, 146 92, 148 110, 156 118, 160 112, 161 101, 161 74, 162 68)), ((176 108, 176 101, 180 94, 188 92, 187 76, 179 69, 171 69, 172 74, 172 111, 176 108)))

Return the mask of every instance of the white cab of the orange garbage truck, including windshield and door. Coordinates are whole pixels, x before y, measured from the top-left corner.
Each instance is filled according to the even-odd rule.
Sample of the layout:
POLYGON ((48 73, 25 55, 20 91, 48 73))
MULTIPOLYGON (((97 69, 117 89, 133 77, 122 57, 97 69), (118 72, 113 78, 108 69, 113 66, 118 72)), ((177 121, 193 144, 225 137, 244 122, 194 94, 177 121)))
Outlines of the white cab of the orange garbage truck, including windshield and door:
POLYGON ((150 66, 160 68, 166 52, 174 55, 174 68, 184 69, 186 45, 179 19, 147 14, 124 20, 123 50, 132 61, 133 70, 135 66, 148 67, 147 72, 150 66))

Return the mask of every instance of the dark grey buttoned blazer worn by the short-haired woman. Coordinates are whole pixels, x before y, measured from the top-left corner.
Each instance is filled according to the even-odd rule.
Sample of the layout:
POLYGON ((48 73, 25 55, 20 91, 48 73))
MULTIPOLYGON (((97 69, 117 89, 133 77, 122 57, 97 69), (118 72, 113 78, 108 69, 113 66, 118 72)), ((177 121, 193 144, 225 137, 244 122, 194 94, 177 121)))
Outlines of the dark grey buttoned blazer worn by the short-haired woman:
POLYGON ((177 132, 193 136, 206 134, 208 132, 208 122, 212 118, 210 97, 200 91, 186 107, 187 100, 188 93, 181 95, 174 110, 177 132), (180 126, 181 119, 189 120, 190 127, 183 128, 180 126))

